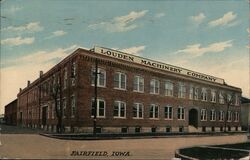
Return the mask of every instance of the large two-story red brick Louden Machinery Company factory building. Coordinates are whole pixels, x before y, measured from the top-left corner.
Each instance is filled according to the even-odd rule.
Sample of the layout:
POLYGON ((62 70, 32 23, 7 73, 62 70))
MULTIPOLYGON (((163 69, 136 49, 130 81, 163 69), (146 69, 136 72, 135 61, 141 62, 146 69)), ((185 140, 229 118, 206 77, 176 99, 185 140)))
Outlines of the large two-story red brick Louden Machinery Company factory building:
POLYGON ((223 79, 123 52, 77 49, 18 93, 18 124, 55 130, 55 100, 66 131, 92 132, 95 63, 97 131, 240 130, 241 89, 223 79), (230 105, 228 105, 230 102, 230 105), (228 116, 227 116, 228 115, 228 116))

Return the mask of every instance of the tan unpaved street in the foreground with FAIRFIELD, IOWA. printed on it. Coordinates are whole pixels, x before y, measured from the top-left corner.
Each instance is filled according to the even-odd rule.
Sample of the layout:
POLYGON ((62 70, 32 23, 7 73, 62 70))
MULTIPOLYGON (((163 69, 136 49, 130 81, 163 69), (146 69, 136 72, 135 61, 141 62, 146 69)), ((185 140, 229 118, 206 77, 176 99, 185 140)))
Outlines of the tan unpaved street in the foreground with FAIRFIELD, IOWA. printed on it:
POLYGON ((246 135, 122 140, 59 140, 36 133, 1 134, 0 158, 172 159, 182 147, 247 141, 246 135), (112 156, 113 155, 113 156, 112 156))

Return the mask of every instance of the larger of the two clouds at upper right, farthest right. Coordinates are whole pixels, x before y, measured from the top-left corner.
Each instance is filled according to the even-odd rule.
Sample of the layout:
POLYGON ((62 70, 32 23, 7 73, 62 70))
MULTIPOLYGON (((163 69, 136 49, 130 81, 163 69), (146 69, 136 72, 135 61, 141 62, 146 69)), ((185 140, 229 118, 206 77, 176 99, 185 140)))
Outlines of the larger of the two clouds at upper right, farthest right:
POLYGON ((227 12, 226 14, 223 15, 223 17, 210 21, 208 25, 210 27, 216 27, 216 26, 234 26, 238 24, 238 21, 234 21, 237 17, 237 14, 233 12, 227 12))

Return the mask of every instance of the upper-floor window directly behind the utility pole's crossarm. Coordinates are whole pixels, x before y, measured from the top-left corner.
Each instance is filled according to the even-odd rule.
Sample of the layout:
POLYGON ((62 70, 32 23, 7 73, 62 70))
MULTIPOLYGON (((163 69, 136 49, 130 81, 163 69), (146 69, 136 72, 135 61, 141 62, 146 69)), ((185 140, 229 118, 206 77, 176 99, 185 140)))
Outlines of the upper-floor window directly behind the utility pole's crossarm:
MULTIPOLYGON (((91 72, 91 84, 95 85, 95 68, 92 68, 91 72)), ((105 87, 106 86, 106 71, 102 68, 97 69, 97 86, 105 87)))

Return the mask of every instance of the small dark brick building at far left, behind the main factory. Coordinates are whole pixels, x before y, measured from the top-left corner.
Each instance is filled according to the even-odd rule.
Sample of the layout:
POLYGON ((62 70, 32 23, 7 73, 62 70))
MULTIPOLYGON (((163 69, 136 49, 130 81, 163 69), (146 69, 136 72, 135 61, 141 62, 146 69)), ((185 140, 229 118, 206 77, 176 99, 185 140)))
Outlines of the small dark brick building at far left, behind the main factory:
POLYGON ((4 120, 8 125, 17 124, 17 99, 4 107, 4 120))

